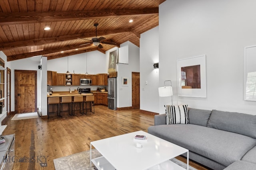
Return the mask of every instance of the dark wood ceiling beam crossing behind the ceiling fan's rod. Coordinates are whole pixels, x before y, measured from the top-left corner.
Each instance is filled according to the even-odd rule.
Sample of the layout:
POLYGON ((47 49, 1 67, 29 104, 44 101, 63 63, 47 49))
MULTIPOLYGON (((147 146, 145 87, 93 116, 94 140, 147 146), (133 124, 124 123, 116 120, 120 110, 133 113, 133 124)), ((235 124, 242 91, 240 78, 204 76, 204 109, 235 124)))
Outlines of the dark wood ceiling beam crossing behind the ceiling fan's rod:
MULTIPOLYGON (((130 32, 130 28, 125 29, 116 29, 112 31, 98 31, 98 36, 104 36, 104 35, 114 35, 114 34, 120 34, 120 33, 126 33, 130 32)), ((26 40, 26 41, 16 41, 11 43, 0 43, 0 51, 7 50, 7 49, 13 49, 18 47, 25 47, 25 46, 35 46, 35 45, 44 45, 44 44, 50 44, 50 43, 58 43, 62 41, 70 41, 77 38, 89 38, 94 37, 95 33, 94 31, 90 31, 90 33, 84 33, 84 34, 75 34, 75 35, 65 35, 61 37, 50 37, 50 38, 42 38, 42 39, 33 39, 33 40, 26 40)))

